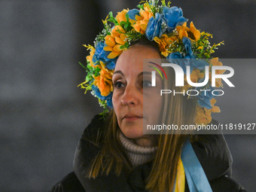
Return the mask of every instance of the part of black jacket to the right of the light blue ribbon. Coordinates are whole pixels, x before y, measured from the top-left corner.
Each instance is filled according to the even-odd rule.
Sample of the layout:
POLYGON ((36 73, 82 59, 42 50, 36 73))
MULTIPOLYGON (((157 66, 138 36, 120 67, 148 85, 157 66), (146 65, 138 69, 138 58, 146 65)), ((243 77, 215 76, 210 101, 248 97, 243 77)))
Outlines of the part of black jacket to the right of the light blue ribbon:
MULTIPOLYGON (((211 123, 218 124, 216 120, 212 120, 211 123)), ((223 134, 197 135, 197 139, 191 144, 212 191, 245 191, 239 183, 230 178, 233 160, 223 134)))

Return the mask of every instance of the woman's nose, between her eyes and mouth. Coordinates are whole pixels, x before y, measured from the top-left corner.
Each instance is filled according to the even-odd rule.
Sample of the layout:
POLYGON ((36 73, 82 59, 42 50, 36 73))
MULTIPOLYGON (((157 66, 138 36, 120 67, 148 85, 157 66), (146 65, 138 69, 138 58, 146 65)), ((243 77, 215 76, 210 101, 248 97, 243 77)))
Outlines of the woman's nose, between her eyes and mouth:
MULTIPOLYGON (((126 86, 124 90, 123 96, 121 98, 121 105, 123 106, 136 106, 140 101, 140 97, 142 97, 138 90, 136 90, 135 86, 126 86)), ((142 99, 142 98, 141 98, 142 99)))

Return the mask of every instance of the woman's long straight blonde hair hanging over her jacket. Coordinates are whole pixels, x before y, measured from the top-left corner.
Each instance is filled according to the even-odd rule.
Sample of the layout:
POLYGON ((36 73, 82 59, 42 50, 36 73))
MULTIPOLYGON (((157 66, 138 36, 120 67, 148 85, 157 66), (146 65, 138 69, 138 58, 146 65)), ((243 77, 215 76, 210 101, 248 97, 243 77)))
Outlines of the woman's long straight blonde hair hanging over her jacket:
MULTIPOLYGON (((146 44, 145 46, 151 45, 146 44)), ((163 87, 175 87, 175 73, 169 70, 167 76, 171 77, 171 81, 164 81, 163 87)), ((176 91, 178 90, 179 88, 176 88, 176 91)), ((181 94, 177 96, 164 94, 162 120, 166 124, 173 123, 180 127, 181 124, 194 123, 195 113, 195 102, 188 101, 181 94)), ((87 178, 108 175, 110 172, 120 175, 122 171, 129 172, 133 169, 132 163, 125 154, 123 145, 121 145, 117 136, 120 128, 114 111, 111 111, 108 117, 110 123, 104 133, 102 148, 94 158, 87 172, 87 178)), ((177 173, 178 159, 181 155, 181 147, 188 135, 169 131, 156 137, 158 148, 152 160, 151 173, 145 181, 145 187, 150 191, 172 191, 177 173)))

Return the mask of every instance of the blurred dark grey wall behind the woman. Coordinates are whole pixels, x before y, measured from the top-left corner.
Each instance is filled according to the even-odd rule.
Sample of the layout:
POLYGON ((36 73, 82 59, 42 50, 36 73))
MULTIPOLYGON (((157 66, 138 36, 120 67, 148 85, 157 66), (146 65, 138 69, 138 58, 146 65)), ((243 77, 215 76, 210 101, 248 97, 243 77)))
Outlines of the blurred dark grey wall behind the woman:
MULTIPOLYGON (((85 126, 101 112, 97 100, 76 86, 84 80, 87 50, 109 11, 138 1, 0 0, 0 190, 47 191, 72 171, 85 126)), ((198 29, 225 41, 216 56, 256 57, 256 2, 173 0, 198 29)), ((220 122, 256 123, 256 66, 236 72, 236 92, 218 98, 220 122), (243 87, 242 83, 248 83, 243 87), (239 93, 239 87, 245 93, 239 93), (236 93, 236 94, 234 94, 236 93)), ((226 85, 227 87, 227 85, 226 85)), ((254 190, 256 137, 226 136, 233 178, 254 190)))

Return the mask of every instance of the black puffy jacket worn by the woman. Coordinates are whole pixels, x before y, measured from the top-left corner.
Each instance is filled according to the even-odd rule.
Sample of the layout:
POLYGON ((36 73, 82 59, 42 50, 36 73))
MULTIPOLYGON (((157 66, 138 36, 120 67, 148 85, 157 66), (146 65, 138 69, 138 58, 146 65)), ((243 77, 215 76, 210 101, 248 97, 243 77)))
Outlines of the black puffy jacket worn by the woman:
MULTIPOLYGON (((84 130, 75 152, 74 172, 69 173, 69 175, 66 175, 65 178, 55 184, 50 192, 146 191, 145 178, 151 171, 151 163, 137 166, 128 177, 122 173, 119 176, 110 173, 108 176, 102 175, 96 179, 85 178, 90 161, 99 152, 99 147, 96 147, 88 140, 102 133, 105 121, 100 118, 101 116, 99 115, 93 117, 92 122, 84 130)), ((192 147, 206 173, 212 191, 245 191, 242 186, 230 178, 232 157, 221 134, 199 135, 197 142, 192 143, 192 147)), ((185 192, 187 191, 189 189, 186 181, 185 192)))

